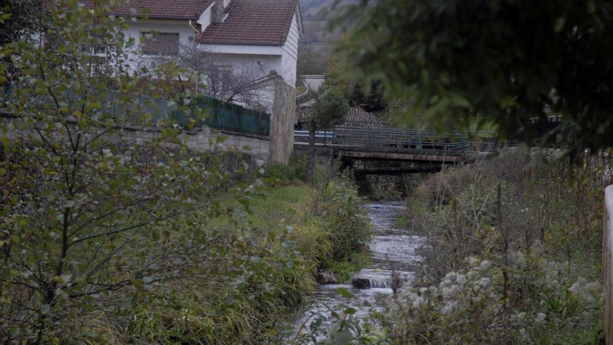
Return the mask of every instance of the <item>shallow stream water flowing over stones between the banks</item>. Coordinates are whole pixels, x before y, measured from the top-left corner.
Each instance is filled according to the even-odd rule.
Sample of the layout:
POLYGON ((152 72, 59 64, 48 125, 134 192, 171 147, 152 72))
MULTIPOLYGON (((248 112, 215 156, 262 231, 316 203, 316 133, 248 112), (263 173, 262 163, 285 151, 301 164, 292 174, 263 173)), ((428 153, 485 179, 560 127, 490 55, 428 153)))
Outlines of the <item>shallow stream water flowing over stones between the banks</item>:
POLYGON ((374 237, 368 246, 371 263, 362 268, 345 284, 321 285, 309 297, 304 312, 296 322, 300 332, 309 332, 309 326, 318 318, 329 316, 330 309, 348 305, 357 310, 355 316, 367 316, 377 305, 377 301, 393 292, 392 288, 413 279, 419 268, 421 257, 416 253, 424 242, 421 236, 412 236, 406 230, 396 229, 394 221, 405 208, 403 202, 387 201, 368 204, 368 216, 374 227, 374 237), (336 289, 343 288, 355 295, 355 298, 343 298, 336 289))

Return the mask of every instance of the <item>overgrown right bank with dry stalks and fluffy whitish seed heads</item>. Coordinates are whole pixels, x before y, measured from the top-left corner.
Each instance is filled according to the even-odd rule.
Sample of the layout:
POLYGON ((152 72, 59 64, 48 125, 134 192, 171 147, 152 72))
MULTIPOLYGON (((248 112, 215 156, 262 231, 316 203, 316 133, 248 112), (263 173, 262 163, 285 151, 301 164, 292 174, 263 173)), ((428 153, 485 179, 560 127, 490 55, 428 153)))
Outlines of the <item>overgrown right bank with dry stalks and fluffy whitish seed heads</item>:
POLYGON ((386 344, 600 344, 607 164, 506 153, 419 185, 397 223, 428 269, 380 318, 386 344))

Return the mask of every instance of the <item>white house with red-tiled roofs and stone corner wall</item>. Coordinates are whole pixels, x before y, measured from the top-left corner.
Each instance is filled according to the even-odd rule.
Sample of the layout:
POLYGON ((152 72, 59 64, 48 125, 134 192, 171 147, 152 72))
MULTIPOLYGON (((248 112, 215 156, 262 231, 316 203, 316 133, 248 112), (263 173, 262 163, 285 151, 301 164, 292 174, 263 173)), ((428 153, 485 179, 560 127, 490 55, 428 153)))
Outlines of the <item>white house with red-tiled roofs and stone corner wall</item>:
MULTIPOLYGON (((227 95, 240 87, 258 96, 271 114, 271 157, 288 159, 302 35, 298 0, 130 0, 115 12, 136 18, 125 32, 135 43, 128 52, 134 70, 161 56, 203 52, 211 67, 205 72, 223 80, 209 89, 227 95), (240 83, 228 82, 233 75, 240 75, 240 83)), ((245 98, 229 100, 249 106, 245 98)))

